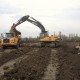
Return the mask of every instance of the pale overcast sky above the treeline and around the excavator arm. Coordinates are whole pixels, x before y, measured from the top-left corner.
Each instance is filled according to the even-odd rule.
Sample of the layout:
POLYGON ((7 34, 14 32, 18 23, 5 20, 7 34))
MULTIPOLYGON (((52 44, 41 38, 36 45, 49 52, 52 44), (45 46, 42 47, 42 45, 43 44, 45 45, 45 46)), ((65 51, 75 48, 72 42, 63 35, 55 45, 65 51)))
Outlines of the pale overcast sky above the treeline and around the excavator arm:
MULTIPOLYGON (((80 0, 0 0, 0 33, 9 32, 13 23, 25 15, 40 21, 49 34, 80 35, 80 0)), ((41 30, 24 22, 17 26, 23 37, 39 36, 41 30)))

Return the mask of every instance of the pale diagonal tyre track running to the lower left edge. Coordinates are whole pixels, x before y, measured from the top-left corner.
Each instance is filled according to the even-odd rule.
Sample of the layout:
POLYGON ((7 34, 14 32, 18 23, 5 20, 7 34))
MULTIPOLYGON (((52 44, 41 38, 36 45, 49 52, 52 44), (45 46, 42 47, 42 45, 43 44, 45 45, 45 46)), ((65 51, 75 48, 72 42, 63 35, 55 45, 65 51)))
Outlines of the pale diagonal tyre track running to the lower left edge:
POLYGON ((5 72, 12 70, 16 63, 19 63, 20 61, 24 60, 25 58, 27 58, 29 55, 36 51, 38 51, 38 49, 34 49, 28 52, 27 54, 24 54, 16 59, 4 63, 2 66, 0 66, 0 76, 4 75, 5 72))

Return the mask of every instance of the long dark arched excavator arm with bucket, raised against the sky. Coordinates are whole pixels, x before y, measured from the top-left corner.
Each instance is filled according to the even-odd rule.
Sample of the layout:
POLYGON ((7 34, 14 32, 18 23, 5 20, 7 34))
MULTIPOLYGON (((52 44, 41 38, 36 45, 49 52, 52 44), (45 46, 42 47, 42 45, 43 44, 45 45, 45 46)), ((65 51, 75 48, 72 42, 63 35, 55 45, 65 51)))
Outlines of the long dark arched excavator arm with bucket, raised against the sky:
POLYGON ((21 32, 16 30, 16 27, 18 25, 20 25, 21 23, 25 22, 25 21, 28 21, 28 22, 36 25, 37 27, 39 27, 41 29, 41 33, 45 34, 47 32, 47 31, 45 31, 44 26, 39 21, 37 21, 33 17, 30 17, 29 15, 26 15, 26 16, 23 16, 21 19, 19 19, 16 23, 13 23, 13 25, 11 26, 11 29, 10 29, 10 33, 14 33, 16 35, 20 35, 21 32))

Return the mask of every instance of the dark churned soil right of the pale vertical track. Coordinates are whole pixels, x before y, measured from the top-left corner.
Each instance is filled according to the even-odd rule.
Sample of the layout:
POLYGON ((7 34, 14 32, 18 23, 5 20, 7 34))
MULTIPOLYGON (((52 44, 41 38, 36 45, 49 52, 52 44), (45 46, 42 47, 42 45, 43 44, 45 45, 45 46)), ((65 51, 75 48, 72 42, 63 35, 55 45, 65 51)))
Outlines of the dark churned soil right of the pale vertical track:
POLYGON ((73 44, 63 44, 58 50, 57 80, 80 80, 80 55, 73 44))

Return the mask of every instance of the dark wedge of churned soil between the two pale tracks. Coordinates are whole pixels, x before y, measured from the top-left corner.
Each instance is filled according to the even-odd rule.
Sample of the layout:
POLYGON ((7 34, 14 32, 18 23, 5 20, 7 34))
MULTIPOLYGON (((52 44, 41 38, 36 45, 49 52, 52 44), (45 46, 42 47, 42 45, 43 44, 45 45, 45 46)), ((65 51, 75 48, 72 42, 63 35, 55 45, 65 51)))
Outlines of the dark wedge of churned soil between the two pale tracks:
POLYGON ((50 48, 40 48, 20 63, 14 69, 4 73, 6 80, 41 80, 44 70, 49 63, 51 55, 50 48))

